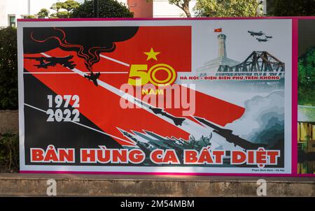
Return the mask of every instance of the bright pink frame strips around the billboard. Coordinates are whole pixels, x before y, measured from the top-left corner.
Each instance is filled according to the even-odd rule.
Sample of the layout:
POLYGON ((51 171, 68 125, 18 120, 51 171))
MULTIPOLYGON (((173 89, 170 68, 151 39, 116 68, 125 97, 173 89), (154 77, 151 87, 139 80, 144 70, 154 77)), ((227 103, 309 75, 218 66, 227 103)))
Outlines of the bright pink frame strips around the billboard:
POLYGON ((152 173, 152 172, 95 172, 95 171, 58 171, 58 170, 20 170, 20 173, 62 173, 94 175, 203 175, 203 176, 246 176, 246 177, 315 177, 315 174, 297 174, 297 57, 298 57, 298 20, 315 20, 309 17, 179 17, 179 18, 60 18, 60 19, 18 19, 18 22, 62 22, 62 21, 128 21, 128 20, 292 20, 292 145, 291 173, 152 173))

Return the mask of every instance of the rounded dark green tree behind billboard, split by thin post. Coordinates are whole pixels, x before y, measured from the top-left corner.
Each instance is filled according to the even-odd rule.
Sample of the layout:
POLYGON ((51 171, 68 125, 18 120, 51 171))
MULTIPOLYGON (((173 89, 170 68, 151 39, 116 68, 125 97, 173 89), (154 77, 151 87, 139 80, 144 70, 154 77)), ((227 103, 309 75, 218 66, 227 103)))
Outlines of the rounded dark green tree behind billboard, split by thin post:
MULTIPOLYGON (((73 9, 70 17, 94 17, 93 1, 84 1, 73 9)), ((115 0, 99 0, 99 17, 134 17, 123 3, 115 0)))

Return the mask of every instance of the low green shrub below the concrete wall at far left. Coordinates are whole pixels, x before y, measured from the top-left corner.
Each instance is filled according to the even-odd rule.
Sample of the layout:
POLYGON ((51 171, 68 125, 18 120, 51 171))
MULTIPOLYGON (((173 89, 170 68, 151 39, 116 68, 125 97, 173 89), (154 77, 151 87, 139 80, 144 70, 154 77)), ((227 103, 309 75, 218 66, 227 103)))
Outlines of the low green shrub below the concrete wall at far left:
POLYGON ((1 172, 18 172, 19 138, 17 134, 0 135, 0 170, 1 172))

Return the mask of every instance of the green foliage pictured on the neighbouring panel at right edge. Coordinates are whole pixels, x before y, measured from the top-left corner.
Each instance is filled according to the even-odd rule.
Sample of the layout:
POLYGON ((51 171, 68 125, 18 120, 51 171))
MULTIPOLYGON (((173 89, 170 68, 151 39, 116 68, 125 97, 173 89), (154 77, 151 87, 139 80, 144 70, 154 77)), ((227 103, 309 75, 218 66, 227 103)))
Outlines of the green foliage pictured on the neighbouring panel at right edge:
POLYGON ((315 47, 299 58, 298 70, 298 103, 315 106, 315 47))

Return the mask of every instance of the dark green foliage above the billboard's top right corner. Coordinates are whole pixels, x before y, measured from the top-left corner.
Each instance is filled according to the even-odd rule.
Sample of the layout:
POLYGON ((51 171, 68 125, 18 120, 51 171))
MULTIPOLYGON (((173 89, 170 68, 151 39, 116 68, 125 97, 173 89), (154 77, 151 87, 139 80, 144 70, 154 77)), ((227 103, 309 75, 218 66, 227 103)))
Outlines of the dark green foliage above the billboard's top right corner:
POLYGON ((314 0, 274 0, 268 3, 268 15, 272 16, 307 16, 315 15, 314 0), (270 6, 269 6, 270 5, 270 6))

